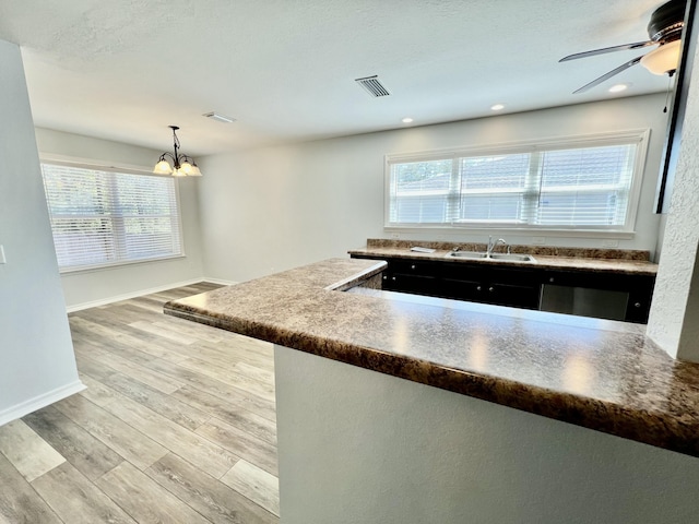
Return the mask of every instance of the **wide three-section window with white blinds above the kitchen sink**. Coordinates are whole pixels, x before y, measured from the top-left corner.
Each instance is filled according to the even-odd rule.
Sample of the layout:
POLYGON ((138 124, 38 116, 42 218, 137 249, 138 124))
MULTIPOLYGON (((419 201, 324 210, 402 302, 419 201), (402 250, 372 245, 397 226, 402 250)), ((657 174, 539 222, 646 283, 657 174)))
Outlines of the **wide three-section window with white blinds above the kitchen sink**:
POLYGON ((386 225, 630 230, 647 135, 389 156, 386 225))

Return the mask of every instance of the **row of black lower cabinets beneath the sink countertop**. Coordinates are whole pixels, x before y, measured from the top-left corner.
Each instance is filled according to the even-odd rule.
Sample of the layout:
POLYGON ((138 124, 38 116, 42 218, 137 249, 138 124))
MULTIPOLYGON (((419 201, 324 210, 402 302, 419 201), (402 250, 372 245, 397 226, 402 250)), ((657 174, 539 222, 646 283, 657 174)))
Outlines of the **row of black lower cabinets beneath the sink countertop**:
POLYGON ((386 290, 637 323, 648 322, 655 284, 653 275, 604 271, 558 271, 419 259, 382 260, 389 264, 382 276, 386 290))

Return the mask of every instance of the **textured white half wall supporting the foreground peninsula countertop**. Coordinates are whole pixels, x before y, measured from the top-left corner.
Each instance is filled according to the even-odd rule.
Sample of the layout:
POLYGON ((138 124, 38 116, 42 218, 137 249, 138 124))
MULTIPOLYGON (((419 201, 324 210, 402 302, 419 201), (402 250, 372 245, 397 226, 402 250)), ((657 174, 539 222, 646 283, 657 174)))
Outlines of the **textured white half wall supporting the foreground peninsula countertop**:
POLYGON ((686 524, 699 458, 275 346, 284 524, 686 524))

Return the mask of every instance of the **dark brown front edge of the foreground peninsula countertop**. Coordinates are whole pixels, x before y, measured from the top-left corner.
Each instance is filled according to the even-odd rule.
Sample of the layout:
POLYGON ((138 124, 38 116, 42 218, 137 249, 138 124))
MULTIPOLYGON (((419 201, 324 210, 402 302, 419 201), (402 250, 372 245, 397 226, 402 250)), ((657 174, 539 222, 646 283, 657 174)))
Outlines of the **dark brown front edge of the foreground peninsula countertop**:
MULTIPOLYGON (((699 456, 699 448, 687 445, 682 440, 663 439, 662 442, 659 442, 657 434, 648 431, 648 418, 653 417, 653 414, 626 409, 615 403, 576 393, 547 390, 501 377, 471 373, 427 360, 403 357, 359 345, 348 345, 340 341, 315 337, 303 332, 293 332, 284 329, 271 330, 264 324, 237 323, 212 318, 192 311, 180 310, 173 306, 167 308, 165 312, 173 317, 233 331, 351 366, 472 396, 637 442, 699 456), (293 342, 289 344, 289 341, 293 342), (531 398, 533 397, 541 400, 534 408, 532 408, 531 404, 531 398), (594 415, 591 417, 590 413, 594 415), (601 414, 605 416, 601 417, 601 414), (601 419, 605 419, 606 424, 601 424, 601 419)), ((656 418, 664 427, 668 430, 671 429, 667 427, 666 417, 656 418)), ((668 431, 668 433, 672 433, 672 431, 668 431)))

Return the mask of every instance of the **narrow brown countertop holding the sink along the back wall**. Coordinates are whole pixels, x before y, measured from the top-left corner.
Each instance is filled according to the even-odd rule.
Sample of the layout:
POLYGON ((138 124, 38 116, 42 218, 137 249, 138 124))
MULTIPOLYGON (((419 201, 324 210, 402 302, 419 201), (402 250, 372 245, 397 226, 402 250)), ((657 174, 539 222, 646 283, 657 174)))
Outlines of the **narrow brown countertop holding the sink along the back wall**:
MULTIPOLYGON (((412 260, 437 260, 441 262, 469 264, 497 264, 500 266, 532 267, 558 271, 584 271, 593 273, 621 273, 628 275, 655 275, 657 264, 649 261, 648 251, 619 249, 582 249, 582 248, 547 248, 538 246, 512 246, 512 253, 532 254, 536 262, 518 262, 493 259, 460 259, 447 257, 454 246, 462 251, 485 252, 486 246, 479 243, 454 245, 446 242, 391 241, 371 240, 366 248, 352 249, 350 254, 355 257, 376 257, 412 260), (433 253, 411 251, 411 247, 427 247, 435 249, 433 253)), ((497 248, 497 252, 501 247, 497 248)))

